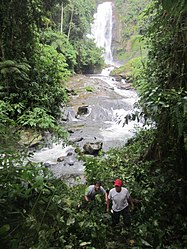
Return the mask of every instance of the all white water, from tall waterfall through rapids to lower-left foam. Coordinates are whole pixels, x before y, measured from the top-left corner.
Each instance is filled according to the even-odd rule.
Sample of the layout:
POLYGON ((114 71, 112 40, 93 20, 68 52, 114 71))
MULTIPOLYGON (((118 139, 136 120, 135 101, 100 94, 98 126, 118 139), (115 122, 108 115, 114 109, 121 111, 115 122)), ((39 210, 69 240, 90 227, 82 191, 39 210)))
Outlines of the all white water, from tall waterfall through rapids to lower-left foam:
MULTIPOLYGON (((126 125, 124 117, 132 113, 134 103, 137 100, 136 92, 126 90, 127 83, 123 80, 117 82, 109 74, 114 68, 111 41, 112 41, 112 2, 104 2, 99 4, 95 20, 92 24, 92 36, 94 37, 97 46, 103 47, 105 50, 104 58, 106 63, 111 67, 103 69, 99 75, 87 76, 90 80, 99 80, 100 87, 106 92, 104 96, 95 96, 87 101, 89 114, 84 115, 79 119, 76 118, 76 113, 70 107, 68 112, 69 127, 75 125, 81 126, 72 136, 81 136, 83 142, 97 137, 103 141, 103 150, 107 151, 111 147, 119 147, 124 145, 127 140, 134 134, 134 121, 126 125), (103 84, 103 86, 102 86, 103 84)), ((88 80, 89 82, 89 80, 88 80)), ((96 82, 98 84, 98 82, 96 82)), ((97 87, 98 85, 96 85, 97 87)), ((85 100, 86 101, 86 100, 85 100)), ((67 124, 66 122, 65 124, 67 124)), ((67 175, 84 175, 84 165, 76 158, 74 148, 72 146, 63 146, 61 144, 53 144, 51 148, 43 148, 34 153, 32 160, 35 162, 43 162, 49 164, 51 170, 56 177, 64 177, 67 175), (72 156, 67 156, 71 154, 72 156), (64 157, 63 162, 57 162, 57 158, 64 157)), ((68 180, 70 181, 70 179, 68 180)))

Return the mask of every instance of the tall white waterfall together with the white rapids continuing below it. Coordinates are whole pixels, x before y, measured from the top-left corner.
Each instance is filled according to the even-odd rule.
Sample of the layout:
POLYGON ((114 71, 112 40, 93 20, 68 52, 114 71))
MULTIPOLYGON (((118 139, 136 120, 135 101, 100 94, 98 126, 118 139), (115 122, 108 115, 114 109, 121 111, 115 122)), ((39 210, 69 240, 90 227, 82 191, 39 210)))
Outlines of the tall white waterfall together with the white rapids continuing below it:
MULTIPOLYGON (((113 14, 112 14, 112 2, 104 2, 99 4, 97 7, 97 13, 94 15, 94 22, 91 25, 91 33, 94 38, 96 45, 98 47, 104 48, 105 54, 104 59, 105 63, 109 64, 110 67, 107 67, 102 70, 100 75, 92 76, 92 78, 99 78, 107 83, 110 87, 113 88, 114 92, 119 95, 119 102, 121 101, 121 96, 123 97, 122 102, 124 103, 123 107, 112 106, 110 112, 111 117, 110 120, 107 121, 109 125, 108 128, 101 128, 101 134, 103 136, 103 140, 107 141, 108 145, 112 141, 112 144, 115 144, 115 140, 117 141, 116 145, 120 145, 120 141, 122 144, 129 137, 132 136, 134 125, 136 122, 129 122, 128 125, 123 125, 125 117, 130 114, 133 110, 133 105, 137 100, 137 94, 134 90, 122 90, 121 86, 125 86, 125 80, 121 82, 121 86, 119 82, 113 77, 110 77, 110 72, 114 69, 116 63, 113 61, 112 56, 112 26, 113 26, 113 14), (112 111, 112 112, 111 112, 112 111)), ((120 105, 119 105, 120 106, 120 105)), ((112 146, 113 147, 113 146, 112 146)))

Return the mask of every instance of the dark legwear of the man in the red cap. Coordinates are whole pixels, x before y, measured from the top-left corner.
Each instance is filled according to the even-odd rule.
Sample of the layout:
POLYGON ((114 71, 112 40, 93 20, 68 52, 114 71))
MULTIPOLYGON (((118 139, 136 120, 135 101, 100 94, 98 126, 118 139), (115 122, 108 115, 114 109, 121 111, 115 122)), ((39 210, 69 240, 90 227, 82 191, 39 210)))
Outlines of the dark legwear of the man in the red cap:
POLYGON ((124 222, 125 226, 129 227, 131 225, 131 215, 130 215, 130 211, 129 211, 128 206, 119 212, 113 211, 113 213, 112 213, 112 226, 115 226, 120 222, 121 215, 123 217, 123 222, 124 222))

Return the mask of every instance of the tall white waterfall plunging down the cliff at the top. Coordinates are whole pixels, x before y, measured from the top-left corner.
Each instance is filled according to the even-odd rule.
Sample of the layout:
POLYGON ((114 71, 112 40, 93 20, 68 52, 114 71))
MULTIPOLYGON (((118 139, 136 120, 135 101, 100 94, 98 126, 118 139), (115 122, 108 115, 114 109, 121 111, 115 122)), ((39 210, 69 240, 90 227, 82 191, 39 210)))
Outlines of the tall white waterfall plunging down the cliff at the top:
POLYGON ((94 14, 94 22, 91 25, 91 34, 97 47, 104 48, 106 64, 112 64, 112 2, 99 4, 94 14))

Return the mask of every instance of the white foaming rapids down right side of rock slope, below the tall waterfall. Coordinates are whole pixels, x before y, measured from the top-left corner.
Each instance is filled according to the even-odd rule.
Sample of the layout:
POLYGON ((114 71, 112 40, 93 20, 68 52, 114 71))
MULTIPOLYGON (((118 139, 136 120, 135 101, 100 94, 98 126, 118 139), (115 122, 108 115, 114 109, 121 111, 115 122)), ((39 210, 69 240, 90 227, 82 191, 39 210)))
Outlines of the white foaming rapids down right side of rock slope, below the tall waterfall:
MULTIPOLYGON (((117 105, 114 103, 110 107, 111 118, 105 121, 108 127, 100 127, 100 134, 106 149, 124 145, 133 136, 134 128, 137 125, 135 121, 129 121, 128 124, 124 124, 124 120, 134 110, 134 103, 137 101, 138 96, 132 89, 121 89, 119 85, 122 83, 117 82, 113 77, 109 76, 110 70, 111 68, 106 68, 102 71, 101 75, 92 76, 92 78, 103 80, 118 95, 118 100, 115 100, 117 105)), ((125 86, 125 82, 123 85, 125 86)))

